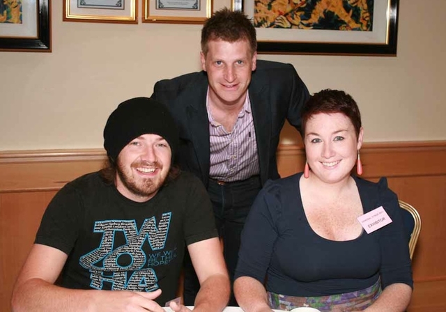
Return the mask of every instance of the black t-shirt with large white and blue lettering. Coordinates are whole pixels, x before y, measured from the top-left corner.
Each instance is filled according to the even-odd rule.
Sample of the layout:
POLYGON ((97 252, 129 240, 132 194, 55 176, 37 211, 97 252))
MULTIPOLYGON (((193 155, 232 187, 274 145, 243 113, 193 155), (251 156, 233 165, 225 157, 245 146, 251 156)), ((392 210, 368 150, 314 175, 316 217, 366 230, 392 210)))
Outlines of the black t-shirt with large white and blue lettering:
POLYGON ((185 244, 217 237, 212 206, 190 173, 145 203, 131 201, 98 173, 68 183, 49 203, 36 235, 68 254, 61 286, 153 291, 174 299, 185 244))

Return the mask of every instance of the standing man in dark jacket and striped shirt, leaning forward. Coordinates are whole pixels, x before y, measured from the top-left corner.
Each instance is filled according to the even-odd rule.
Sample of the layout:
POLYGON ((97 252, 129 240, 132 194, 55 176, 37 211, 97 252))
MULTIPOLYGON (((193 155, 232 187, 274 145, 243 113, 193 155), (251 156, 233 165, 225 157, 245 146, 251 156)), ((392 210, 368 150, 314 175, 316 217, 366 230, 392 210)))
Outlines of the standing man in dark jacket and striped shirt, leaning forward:
MULTIPOLYGON (((293 65, 258 61, 256 49, 247 16, 219 10, 201 31, 203 71, 158 81, 152 95, 180 127, 180 168, 208 189, 231 278, 249 209, 263 183, 279 178, 276 151, 285 119, 300 130, 300 108, 309 98, 293 65)), ((185 265, 187 305, 199 286, 191 268, 185 265)))

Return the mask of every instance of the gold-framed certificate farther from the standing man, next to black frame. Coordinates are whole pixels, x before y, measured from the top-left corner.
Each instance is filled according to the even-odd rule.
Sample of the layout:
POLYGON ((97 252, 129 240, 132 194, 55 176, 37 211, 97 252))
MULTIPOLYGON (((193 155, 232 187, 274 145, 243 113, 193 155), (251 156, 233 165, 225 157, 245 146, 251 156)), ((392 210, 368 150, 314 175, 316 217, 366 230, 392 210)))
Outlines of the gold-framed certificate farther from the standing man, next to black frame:
POLYGON ((138 24, 137 0, 62 0, 66 22, 138 24))

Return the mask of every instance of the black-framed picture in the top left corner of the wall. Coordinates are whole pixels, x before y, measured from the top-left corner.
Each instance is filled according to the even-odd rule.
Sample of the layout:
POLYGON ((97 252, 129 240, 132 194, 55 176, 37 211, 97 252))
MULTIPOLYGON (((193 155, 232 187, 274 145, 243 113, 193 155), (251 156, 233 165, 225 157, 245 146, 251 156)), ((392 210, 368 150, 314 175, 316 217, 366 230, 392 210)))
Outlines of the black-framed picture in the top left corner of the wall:
POLYGON ((0 51, 51 52, 49 0, 0 1, 0 51))

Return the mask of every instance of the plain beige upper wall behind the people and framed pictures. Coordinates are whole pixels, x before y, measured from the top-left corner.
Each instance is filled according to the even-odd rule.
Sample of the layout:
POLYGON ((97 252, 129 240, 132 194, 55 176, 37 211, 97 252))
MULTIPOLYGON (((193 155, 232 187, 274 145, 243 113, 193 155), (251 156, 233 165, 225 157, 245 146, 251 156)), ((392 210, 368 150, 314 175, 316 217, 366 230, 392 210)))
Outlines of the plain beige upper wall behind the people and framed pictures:
MULTIPOLYGON (((52 1, 52 53, 0 52, 0 150, 100 148, 119 102, 200 70, 201 25, 62 22, 62 2, 52 1)), ((445 11, 444 0, 400 0, 397 57, 260 58, 292 63, 311 93, 351 93, 365 141, 445 140, 445 11)))

